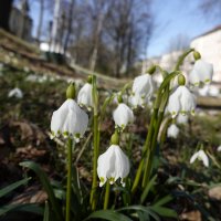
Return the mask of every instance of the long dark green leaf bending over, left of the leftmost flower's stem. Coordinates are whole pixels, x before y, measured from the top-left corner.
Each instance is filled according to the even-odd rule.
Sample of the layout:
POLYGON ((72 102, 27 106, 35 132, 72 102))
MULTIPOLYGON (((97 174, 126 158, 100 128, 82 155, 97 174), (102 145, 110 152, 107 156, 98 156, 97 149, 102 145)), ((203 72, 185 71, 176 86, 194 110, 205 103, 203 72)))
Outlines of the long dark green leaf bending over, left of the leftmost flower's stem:
POLYGON ((49 196, 49 201, 52 204, 52 210, 55 213, 56 219, 62 221, 63 220, 62 210, 59 204, 59 201, 56 200, 56 198, 54 196, 53 188, 49 181, 49 178, 46 177, 46 173, 41 169, 41 167, 39 165, 36 165, 33 161, 20 162, 20 166, 32 169, 36 173, 36 176, 40 179, 40 182, 42 183, 43 188, 45 189, 45 191, 49 196))

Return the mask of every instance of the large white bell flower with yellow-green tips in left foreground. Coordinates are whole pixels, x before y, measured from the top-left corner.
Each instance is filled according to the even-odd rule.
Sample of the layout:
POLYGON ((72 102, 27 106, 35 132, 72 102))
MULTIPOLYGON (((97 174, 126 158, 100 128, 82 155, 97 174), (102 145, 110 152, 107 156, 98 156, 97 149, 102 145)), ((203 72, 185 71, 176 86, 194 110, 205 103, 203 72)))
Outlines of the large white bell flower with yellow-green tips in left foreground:
POLYGON ((66 99, 52 115, 52 135, 73 136, 76 141, 83 137, 88 124, 87 114, 81 109, 74 99, 66 99))

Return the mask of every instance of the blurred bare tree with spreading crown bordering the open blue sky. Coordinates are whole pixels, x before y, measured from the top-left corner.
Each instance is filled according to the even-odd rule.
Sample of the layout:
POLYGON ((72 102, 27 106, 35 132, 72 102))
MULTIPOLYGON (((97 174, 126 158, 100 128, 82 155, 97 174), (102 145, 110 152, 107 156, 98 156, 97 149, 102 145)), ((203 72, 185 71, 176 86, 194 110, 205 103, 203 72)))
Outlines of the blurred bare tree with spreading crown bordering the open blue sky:
POLYGON ((106 21, 106 34, 115 53, 115 75, 129 71, 147 46, 150 35, 150 1, 113 0, 106 21))

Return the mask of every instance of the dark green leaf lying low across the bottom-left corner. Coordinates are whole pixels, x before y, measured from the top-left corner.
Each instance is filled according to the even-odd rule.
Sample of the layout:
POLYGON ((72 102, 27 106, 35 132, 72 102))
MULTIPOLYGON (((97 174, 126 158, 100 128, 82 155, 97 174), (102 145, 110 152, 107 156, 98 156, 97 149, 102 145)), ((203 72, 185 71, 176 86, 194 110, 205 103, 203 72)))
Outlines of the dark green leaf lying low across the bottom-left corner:
POLYGON ((43 209, 38 204, 8 204, 0 208, 0 215, 11 211, 25 211, 43 215, 43 209))

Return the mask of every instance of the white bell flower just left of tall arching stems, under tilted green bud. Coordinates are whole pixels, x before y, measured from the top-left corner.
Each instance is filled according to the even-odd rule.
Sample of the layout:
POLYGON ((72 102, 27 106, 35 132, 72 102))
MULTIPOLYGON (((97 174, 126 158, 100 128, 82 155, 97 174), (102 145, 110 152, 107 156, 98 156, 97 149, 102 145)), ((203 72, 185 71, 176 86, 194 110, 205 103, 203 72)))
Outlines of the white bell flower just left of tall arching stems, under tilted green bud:
POLYGON ((140 96, 141 98, 150 97, 154 92, 154 82, 150 74, 143 74, 135 77, 133 84, 133 94, 140 96))

